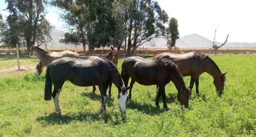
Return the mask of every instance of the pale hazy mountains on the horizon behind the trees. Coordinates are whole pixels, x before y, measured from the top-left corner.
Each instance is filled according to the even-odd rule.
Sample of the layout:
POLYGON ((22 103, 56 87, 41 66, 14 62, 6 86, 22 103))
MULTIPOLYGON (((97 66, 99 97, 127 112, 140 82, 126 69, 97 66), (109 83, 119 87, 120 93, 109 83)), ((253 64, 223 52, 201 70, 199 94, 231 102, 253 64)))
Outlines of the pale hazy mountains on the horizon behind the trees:
MULTIPOLYGON (((52 29, 51 30, 51 38, 52 41, 48 42, 47 45, 50 47, 75 47, 75 45, 69 44, 65 45, 59 42, 59 39, 63 38, 63 35, 66 32, 52 29)), ((224 42, 224 41, 223 41, 224 42)), ((211 48, 213 41, 200 36, 198 34, 191 34, 184 37, 179 38, 176 41, 176 46, 179 48, 211 48)), ((215 42, 218 46, 221 45, 221 42, 215 42)), ((156 38, 151 42, 145 42, 141 47, 152 47, 151 45, 155 44, 155 48, 166 48, 166 40, 164 38, 156 38)), ((78 45, 80 47, 82 45, 78 45)), ((223 47, 256 47, 256 42, 247 43, 247 42, 227 42, 223 47)))

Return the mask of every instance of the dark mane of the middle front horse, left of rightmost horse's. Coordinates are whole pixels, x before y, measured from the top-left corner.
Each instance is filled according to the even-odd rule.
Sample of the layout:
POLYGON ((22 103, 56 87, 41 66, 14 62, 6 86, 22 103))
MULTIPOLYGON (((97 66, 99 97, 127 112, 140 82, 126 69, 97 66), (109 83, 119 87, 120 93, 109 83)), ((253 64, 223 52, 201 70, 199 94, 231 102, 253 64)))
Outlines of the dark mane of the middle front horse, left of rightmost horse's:
POLYGON ((183 80, 183 77, 182 77, 182 74, 179 71, 179 69, 178 69, 178 67, 177 67, 177 65, 175 63, 173 63, 171 60, 166 59, 164 57, 156 58, 155 61, 156 61, 158 67, 171 67, 172 70, 174 70, 176 72, 176 73, 174 73, 174 74, 176 74, 175 76, 177 78, 181 79, 183 84, 185 84, 185 82, 183 80))

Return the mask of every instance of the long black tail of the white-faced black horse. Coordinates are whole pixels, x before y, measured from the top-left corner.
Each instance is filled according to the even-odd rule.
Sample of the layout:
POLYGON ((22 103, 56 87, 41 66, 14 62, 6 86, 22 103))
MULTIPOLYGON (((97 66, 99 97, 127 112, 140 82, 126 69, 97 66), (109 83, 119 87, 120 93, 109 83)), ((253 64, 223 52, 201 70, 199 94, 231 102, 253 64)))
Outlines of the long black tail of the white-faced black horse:
POLYGON ((46 74, 45 74, 45 100, 51 100, 51 78, 49 75, 50 64, 47 66, 46 74))

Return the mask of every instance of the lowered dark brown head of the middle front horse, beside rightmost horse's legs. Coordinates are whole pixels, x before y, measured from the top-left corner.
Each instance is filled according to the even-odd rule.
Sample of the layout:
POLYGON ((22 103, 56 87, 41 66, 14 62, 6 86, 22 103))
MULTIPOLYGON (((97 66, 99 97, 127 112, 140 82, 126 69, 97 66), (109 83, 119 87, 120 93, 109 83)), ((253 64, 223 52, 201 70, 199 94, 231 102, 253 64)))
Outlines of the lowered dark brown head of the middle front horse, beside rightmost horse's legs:
POLYGON ((181 91, 178 92, 177 98, 181 105, 184 105, 185 108, 188 108, 188 100, 190 97, 191 89, 189 86, 182 86, 181 91))

